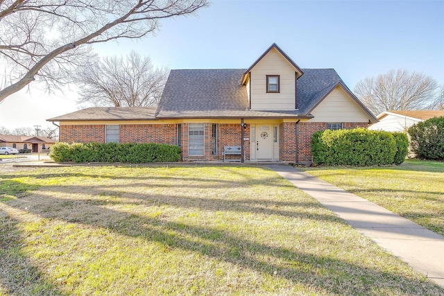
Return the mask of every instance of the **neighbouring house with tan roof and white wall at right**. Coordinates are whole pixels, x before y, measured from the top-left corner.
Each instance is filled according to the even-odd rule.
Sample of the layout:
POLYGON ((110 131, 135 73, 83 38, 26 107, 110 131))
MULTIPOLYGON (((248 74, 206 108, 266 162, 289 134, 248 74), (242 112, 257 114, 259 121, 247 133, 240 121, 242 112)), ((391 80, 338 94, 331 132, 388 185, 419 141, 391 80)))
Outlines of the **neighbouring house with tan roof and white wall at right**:
POLYGON ((435 116, 444 116, 443 111, 386 111, 377 116, 378 123, 370 125, 369 130, 386 130, 387 132, 406 132, 411 125, 426 121, 435 116))

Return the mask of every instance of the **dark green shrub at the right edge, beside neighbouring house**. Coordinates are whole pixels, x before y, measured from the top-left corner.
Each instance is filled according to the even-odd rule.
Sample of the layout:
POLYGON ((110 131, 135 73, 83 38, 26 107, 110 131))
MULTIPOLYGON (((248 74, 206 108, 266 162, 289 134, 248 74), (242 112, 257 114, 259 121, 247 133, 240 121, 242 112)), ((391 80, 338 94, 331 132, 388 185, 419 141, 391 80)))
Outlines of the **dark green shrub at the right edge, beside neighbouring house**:
POLYGON ((444 160, 444 116, 409 128, 411 150, 422 159, 444 160))

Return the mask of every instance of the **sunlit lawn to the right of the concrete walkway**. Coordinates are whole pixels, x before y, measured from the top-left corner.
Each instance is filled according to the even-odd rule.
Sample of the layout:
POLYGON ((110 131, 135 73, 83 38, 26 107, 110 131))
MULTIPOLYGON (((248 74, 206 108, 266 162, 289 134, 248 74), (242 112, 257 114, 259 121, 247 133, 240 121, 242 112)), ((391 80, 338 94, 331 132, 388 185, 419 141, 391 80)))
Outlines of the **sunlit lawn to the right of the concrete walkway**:
POLYGON ((411 159, 400 166, 305 171, 444 236, 444 162, 411 159))

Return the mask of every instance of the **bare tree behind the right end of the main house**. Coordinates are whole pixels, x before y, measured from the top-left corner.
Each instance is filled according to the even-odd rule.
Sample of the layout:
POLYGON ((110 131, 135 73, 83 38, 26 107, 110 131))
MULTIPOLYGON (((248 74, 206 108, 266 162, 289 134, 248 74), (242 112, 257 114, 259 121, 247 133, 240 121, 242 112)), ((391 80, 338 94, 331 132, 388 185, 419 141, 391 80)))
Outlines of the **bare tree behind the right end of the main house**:
POLYGON ((365 78, 354 92, 374 114, 388 110, 425 110, 434 100, 437 82, 422 73, 391 70, 365 78))

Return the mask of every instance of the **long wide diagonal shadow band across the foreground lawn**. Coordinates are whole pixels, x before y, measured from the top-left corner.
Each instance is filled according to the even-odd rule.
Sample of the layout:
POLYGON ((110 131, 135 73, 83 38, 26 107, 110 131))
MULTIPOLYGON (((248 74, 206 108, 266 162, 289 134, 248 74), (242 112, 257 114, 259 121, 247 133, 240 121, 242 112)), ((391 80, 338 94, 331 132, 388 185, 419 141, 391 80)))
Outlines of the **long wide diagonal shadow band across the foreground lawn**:
MULTIPOLYGON (((45 188, 45 190, 48 189, 45 188)), ((75 187, 72 187, 67 191, 74 189, 75 187)), ((138 198, 143 200, 142 195, 138 198)), ((180 198, 176 196, 176 199, 180 198)), ((186 204, 187 198, 183 200, 185 201, 182 203, 178 201, 175 206, 186 204)), ((199 201, 203 200, 197 199, 196 204, 199 201)), ((232 200, 218 200, 217 207, 207 209, 215 210, 221 207, 219 211, 227 211, 233 208, 231 203, 232 200)), ((322 293, 365 295, 370 291, 377 293, 378 290, 384 290, 393 295, 400 293, 439 295, 444 292, 432 284, 405 277, 400 273, 368 268, 365 265, 357 265, 328 256, 306 254, 303 250, 298 252, 266 243, 258 243, 210 226, 189 225, 168 219, 151 218, 142 214, 116 211, 106 208, 106 203, 94 204, 91 200, 52 198, 35 191, 32 196, 8 202, 8 205, 17 209, 27 207, 28 211, 44 218, 56 218, 97 228, 108 225, 106 229, 123 236, 142 238, 144 241, 161 243, 169 248, 191 251, 202 255, 203 258, 208 256, 216 261, 232 263, 271 277, 302 283, 314 287, 315 290, 322 293), (67 202, 75 203, 78 208, 85 207, 87 213, 74 210, 71 212, 71 216, 65 216, 62 209, 67 207, 67 202), (52 204, 52 207, 46 207, 48 204, 52 204), (107 217, 112 218, 113 223, 105 221, 107 217)), ((155 207, 151 202, 148 202, 148 206, 155 207)), ((243 210, 239 209, 239 211, 243 210)), ((245 211, 250 211, 250 209, 245 211)), ((298 215, 297 212, 286 213, 286 216, 298 217, 298 215)), ((330 217, 328 220, 342 223, 339 218, 335 217, 330 217)), ((6 266, 6 268, 10 267, 6 266)), ((32 266, 28 268, 33 270, 32 266)), ((37 279, 37 281, 39 280, 37 279)))

